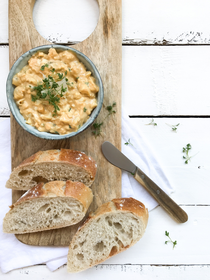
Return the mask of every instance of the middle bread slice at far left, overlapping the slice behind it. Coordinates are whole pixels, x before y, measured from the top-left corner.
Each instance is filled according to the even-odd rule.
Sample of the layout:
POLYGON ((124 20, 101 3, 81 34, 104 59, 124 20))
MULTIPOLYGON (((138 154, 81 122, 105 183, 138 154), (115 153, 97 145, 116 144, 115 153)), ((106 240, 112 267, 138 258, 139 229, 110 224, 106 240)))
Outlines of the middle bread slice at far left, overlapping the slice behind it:
POLYGON ((37 232, 77 224, 92 200, 91 189, 81 182, 40 183, 10 206, 3 219, 3 232, 37 232))

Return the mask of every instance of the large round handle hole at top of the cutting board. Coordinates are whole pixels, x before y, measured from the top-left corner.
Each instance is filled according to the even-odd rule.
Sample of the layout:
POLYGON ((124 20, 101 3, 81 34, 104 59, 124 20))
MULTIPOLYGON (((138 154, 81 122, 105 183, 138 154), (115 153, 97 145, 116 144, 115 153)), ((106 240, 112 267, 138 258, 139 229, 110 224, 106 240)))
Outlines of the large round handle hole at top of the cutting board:
POLYGON ((46 40, 77 44, 94 31, 99 20, 97 0, 36 0, 33 22, 46 40))

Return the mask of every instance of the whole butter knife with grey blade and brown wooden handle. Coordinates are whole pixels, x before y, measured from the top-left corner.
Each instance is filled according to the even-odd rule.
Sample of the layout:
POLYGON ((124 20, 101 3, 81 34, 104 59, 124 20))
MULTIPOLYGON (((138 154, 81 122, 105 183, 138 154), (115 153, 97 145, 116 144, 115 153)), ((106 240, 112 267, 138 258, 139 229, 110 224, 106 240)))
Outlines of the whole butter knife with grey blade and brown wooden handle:
POLYGON ((111 164, 131 173, 133 178, 157 200, 160 206, 162 206, 177 223, 187 222, 187 213, 113 144, 109 141, 105 141, 101 148, 104 156, 111 164))

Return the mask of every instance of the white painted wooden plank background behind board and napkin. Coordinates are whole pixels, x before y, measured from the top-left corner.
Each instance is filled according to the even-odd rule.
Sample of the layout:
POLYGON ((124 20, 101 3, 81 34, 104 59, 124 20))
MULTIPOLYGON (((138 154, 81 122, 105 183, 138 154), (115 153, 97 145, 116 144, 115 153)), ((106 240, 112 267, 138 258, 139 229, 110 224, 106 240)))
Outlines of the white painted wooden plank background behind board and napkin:
MULTIPOLYGON (((176 224, 156 207, 145 236, 135 246, 81 274, 46 265, 0 271, 0 279, 209 279, 210 275, 210 3, 206 0, 122 0, 123 105, 155 149, 175 192, 171 197, 189 216, 176 224), (151 117, 157 127, 145 126, 151 117), (180 123, 174 133, 166 123, 180 123), (182 147, 190 143, 188 165, 182 147), (177 247, 166 245, 165 231, 177 247)), ((99 17, 96 0, 36 0, 34 23, 53 43, 87 38, 99 17), (80 19, 71 11, 77 10, 80 19)), ((8 3, 0 1, 0 121, 9 116, 8 3)))

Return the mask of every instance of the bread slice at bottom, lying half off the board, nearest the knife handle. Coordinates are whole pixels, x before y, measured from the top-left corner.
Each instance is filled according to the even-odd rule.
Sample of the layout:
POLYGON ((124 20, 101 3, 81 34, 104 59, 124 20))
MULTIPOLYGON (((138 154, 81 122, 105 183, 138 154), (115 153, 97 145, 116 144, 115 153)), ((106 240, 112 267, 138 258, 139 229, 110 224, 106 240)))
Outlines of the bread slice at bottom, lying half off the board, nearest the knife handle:
POLYGON ((133 198, 113 199, 90 214, 69 245, 67 270, 97 265, 133 246, 143 235, 148 210, 133 198))

